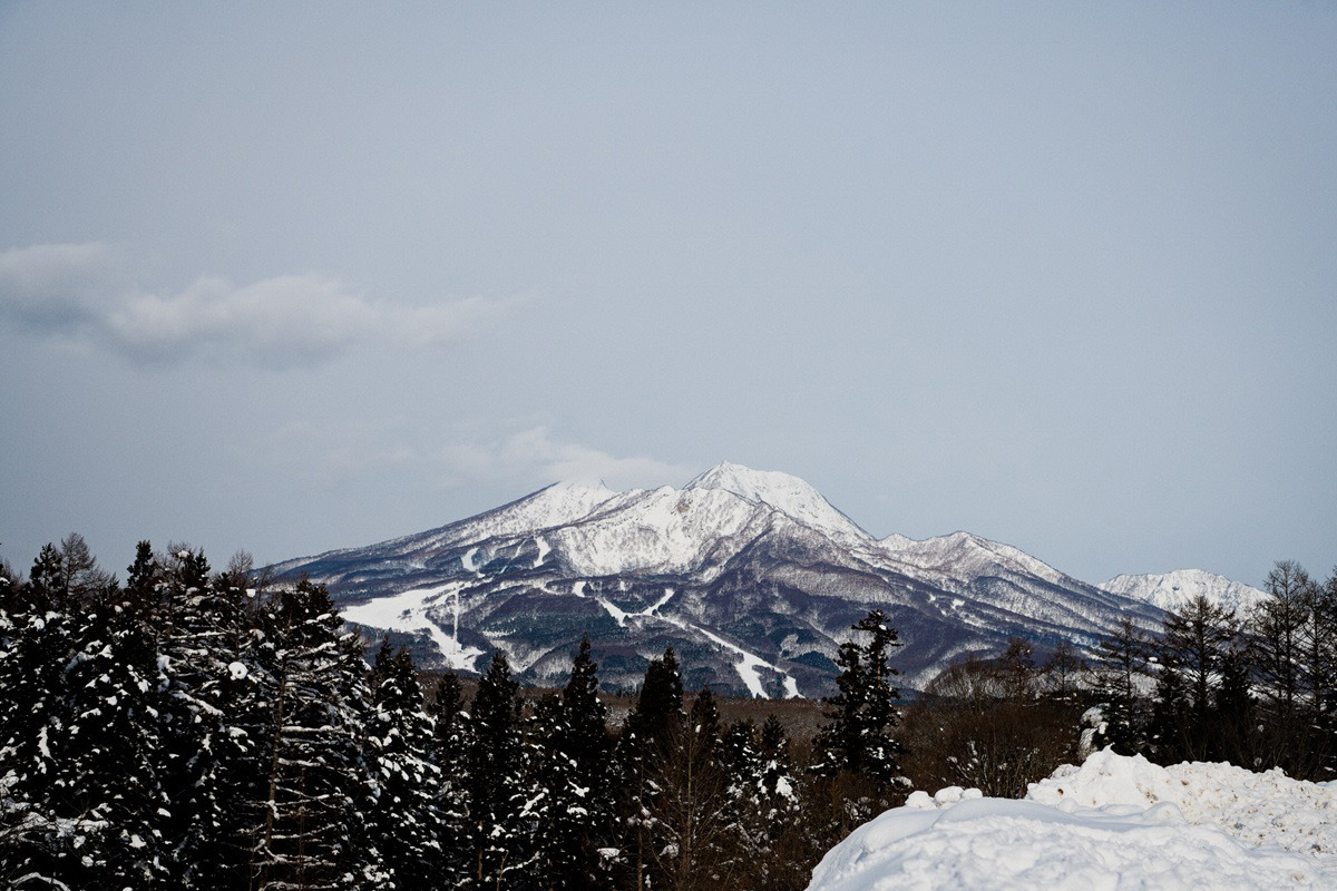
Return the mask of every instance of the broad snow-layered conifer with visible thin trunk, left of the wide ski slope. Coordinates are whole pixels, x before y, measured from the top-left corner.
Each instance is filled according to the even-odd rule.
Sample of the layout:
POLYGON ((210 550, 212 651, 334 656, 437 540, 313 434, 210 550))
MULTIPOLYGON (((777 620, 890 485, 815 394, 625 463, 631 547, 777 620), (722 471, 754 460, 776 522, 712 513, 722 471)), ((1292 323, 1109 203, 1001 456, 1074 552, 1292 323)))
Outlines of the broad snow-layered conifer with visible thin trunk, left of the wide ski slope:
POLYGON ((266 795, 253 815, 257 891, 358 888, 374 864, 362 844, 366 667, 342 624, 329 592, 306 580, 266 604, 259 661, 273 689, 266 795))

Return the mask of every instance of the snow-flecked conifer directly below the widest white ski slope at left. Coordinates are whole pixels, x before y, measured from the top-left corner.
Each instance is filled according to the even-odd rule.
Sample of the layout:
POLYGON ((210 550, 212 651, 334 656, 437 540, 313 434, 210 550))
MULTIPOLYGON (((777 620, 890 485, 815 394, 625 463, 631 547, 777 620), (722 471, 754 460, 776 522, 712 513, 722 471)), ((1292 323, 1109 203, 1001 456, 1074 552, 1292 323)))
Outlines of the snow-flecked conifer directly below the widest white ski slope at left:
POLYGON ((380 854, 381 888, 414 891, 441 879, 441 768, 432 761, 432 719, 406 648, 390 655, 386 637, 372 665, 368 761, 376 800, 366 831, 380 854))

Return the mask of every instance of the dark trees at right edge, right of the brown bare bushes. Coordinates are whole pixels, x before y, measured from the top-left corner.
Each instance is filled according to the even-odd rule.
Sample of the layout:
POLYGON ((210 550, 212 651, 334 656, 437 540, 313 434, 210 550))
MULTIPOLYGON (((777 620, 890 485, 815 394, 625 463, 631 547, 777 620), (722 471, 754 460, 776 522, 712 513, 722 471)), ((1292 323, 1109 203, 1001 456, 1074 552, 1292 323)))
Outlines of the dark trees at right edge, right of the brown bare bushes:
POLYGON ((1124 622, 1103 641, 1094 743, 1163 764, 1337 776, 1337 570, 1320 581, 1282 561, 1266 592, 1243 616, 1197 597, 1159 639, 1124 622))

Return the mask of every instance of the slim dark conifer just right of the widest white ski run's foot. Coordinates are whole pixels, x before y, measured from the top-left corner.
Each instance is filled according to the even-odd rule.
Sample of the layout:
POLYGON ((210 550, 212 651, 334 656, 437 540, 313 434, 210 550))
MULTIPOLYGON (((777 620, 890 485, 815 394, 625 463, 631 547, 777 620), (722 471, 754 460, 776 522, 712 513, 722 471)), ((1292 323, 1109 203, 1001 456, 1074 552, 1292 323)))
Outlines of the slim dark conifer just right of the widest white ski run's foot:
POLYGON ((517 688, 505 653, 496 651, 469 712, 465 784, 472 863, 471 884, 461 887, 513 887, 511 876, 523 876, 533 859, 517 688))

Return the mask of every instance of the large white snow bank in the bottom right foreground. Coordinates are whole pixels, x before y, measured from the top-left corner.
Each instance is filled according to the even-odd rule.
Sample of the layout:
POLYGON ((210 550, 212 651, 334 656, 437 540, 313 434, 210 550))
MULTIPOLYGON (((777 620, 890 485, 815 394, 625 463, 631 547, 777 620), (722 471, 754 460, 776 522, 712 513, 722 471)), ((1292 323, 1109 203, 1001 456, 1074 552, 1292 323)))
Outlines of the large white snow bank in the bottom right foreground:
POLYGON ((832 848, 808 887, 1337 888, 1337 787, 1106 749, 1027 800, 915 792, 832 848))

